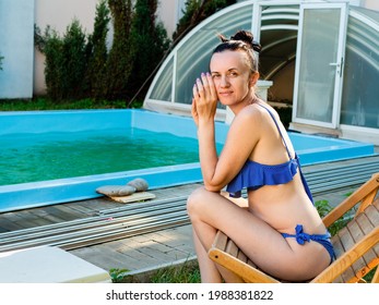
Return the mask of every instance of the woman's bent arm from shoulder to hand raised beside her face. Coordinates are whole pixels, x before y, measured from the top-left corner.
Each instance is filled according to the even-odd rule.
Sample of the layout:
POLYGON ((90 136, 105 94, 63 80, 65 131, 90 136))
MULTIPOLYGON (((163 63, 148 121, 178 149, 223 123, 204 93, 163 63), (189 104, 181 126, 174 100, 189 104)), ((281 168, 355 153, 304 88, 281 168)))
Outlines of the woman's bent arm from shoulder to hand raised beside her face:
POLYGON ((234 119, 220 158, 215 148, 214 114, 217 97, 210 75, 202 76, 193 88, 192 117, 198 126, 199 157, 209 191, 221 191, 241 169, 260 134, 260 112, 244 108, 234 119), (215 97, 214 97, 215 96, 215 97))

